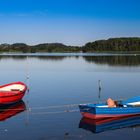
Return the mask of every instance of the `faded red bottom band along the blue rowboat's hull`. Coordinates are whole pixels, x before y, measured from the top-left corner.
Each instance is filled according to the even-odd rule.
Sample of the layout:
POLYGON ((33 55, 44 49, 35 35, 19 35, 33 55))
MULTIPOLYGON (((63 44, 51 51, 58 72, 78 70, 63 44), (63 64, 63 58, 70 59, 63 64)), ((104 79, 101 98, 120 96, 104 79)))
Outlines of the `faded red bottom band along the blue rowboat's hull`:
MULTIPOLYGON (((119 118, 119 117, 127 117, 127 116, 133 116, 132 114, 131 115, 128 115, 128 114, 110 114, 110 115, 105 115, 105 114, 100 114, 100 115, 95 115, 95 114, 91 114, 91 113, 85 113, 85 112, 81 112, 81 114, 83 115, 84 118, 88 118, 88 119, 103 119, 103 118, 119 118)), ((137 115, 137 114, 135 114, 137 115)))

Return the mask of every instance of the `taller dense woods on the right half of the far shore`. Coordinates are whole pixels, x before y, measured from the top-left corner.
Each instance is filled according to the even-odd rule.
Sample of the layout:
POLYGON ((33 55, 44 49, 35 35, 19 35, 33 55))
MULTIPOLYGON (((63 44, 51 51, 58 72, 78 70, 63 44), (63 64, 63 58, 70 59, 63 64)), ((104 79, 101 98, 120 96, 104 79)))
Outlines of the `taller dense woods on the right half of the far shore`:
POLYGON ((82 47, 83 52, 130 52, 140 51, 140 38, 110 38, 89 42, 82 47))

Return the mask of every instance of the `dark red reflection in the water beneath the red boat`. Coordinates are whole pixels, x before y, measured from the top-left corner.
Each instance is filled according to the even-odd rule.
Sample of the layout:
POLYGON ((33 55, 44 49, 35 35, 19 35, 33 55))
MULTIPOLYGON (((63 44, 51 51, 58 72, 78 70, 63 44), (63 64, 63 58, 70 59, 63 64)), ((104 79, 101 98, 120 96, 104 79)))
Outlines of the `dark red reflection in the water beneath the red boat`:
POLYGON ((20 112, 26 110, 25 103, 19 101, 13 104, 0 106, 0 121, 4 121, 12 116, 17 115, 20 112))

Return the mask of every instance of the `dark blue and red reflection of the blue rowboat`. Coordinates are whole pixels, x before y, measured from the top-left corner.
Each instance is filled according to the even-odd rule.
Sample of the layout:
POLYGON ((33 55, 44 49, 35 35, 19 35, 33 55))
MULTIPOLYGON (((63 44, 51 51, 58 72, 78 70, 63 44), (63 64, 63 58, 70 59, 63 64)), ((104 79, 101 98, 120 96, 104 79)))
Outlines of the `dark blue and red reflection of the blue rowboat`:
POLYGON ((82 118, 79 123, 79 128, 89 130, 93 133, 136 126, 140 126, 140 115, 98 120, 82 118))

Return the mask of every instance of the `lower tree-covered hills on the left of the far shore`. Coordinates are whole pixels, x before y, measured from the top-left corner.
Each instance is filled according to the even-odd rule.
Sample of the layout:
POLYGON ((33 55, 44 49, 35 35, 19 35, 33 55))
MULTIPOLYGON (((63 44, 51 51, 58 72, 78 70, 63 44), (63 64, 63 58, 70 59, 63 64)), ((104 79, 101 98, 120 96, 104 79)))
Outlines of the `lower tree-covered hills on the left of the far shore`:
POLYGON ((1 44, 0 52, 23 52, 23 53, 36 53, 36 52, 79 52, 79 47, 66 46, 61 43, 44 43, 38 45, 27 45, 24 43, 15 44, 1 44))

